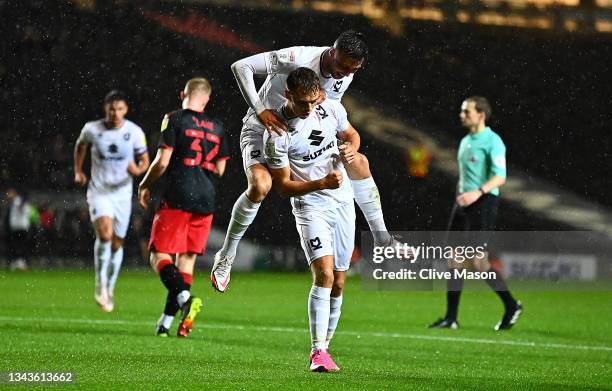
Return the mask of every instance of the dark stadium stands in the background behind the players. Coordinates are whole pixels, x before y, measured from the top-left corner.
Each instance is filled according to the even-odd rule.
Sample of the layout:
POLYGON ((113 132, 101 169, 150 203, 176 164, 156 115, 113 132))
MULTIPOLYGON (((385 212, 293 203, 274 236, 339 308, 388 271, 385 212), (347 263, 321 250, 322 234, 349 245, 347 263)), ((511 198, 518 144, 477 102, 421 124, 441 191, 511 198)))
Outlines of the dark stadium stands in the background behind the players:
MULTIPOLYGON (((229 3, 0 1, 0 188, 17 186, 54 214, 49 229, 33 233, 33 258, 87 259, 91 252, 85 190, 72 184, 72 151, 82 125, 102 116, 101 100, 110 89, 128 93, 128 118, 147 133, 153 157, 161 118, 178 107, 184 82, 198 75, 211 80, 207 110, 224 122, 231 144, 214 223, 225 229, 246 185, 238 146, 246 104, 230 64, 263 50, 330 45, 348 28, 365 33, 371 48, 349 90, 362 104, 456 147, 464 133, 462 99, 487 96, 494 110, 490 125, 508 147, 510 176, 520 171, 527 187, 545 183, 551 194, 573 194, 596 210, 612 206, 612 34, 594 31, 588 21, 569 32, 406 18, 398 35, 361 15, 283 8, 285 2, 253 8, 229 3)), ((575 14, 563 6, 550 12, 610 16, 609 8, 584 7, 575 14)), ((412 177, 405 150, 358 130, 388 228, 443 230, 456 178, 433 164, 436 156, 425 178, 412 177)), ((500 210, 500 229, 577 229, 503 196, 500 210)), ((148 237, 150 221, 134 211, 128 262, 138 258, 137 242, 148 237)), ((358 229, 367 229, 361 216, 358 229)), ((297 247, 289 203, 271 194, 247 238, 297 247)))

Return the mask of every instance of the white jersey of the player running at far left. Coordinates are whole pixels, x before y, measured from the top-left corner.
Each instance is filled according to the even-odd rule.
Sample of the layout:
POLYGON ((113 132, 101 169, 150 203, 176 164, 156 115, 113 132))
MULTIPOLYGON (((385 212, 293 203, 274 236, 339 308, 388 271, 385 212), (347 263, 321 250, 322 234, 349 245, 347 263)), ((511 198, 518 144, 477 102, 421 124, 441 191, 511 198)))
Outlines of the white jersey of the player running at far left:
POLYGON ((136 155, 147 152, 147 139, 142 129, 124 120, 118 129, 108 129, 104 120, 87 122, 78 142, 91 144, 91 180, 89 189, 108 191, 132 185, 127 168, 136 155))

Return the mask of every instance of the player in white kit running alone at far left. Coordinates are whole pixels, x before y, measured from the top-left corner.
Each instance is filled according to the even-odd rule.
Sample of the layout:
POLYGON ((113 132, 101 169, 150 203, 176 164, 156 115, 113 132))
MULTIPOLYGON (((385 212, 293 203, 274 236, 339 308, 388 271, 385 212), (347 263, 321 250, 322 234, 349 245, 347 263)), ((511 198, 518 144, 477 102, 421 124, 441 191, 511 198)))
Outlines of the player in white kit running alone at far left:
POLYGON ((103 311, 114 308, 114 289, 123 262, 123 239, 132 212, 132 177, 149 168, 142 129, 125 119, 126 96, 113 90, 104 98, 105 117, 87 122, 74 148, 74 182, 87 183, 83 163, 91 146, 91 180, 87 187, 89 215, 96 232, 95 299, 103 311))

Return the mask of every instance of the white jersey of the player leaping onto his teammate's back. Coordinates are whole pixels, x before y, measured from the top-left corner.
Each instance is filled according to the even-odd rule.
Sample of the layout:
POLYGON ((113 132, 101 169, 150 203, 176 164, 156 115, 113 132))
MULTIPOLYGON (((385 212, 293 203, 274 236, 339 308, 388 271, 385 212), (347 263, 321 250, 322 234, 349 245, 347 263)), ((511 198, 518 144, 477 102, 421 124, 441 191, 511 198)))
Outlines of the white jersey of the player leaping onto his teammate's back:
MULTIPOLYGON (((349 84, 353 81, 353 74, 342 79, 324 76, 321 70, 321 59, 323 53, 328 49, 330 48, 327 46, 294 46, 263 53, 268 77, 259 89, 258 94, 264 106, 276 108, 285 103, 284 94, 287 89, 287 76, 291 71, 300 67, 310 68, 319 76, 321 88, 327 93, 327 99, 340 101, 349 84)), ((246 123, 253 117, 257 122, 255 111, 249 108, 243 122, 246 123)))

